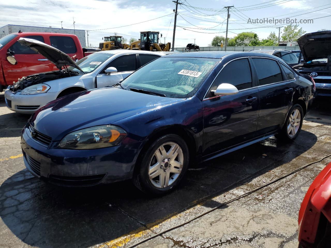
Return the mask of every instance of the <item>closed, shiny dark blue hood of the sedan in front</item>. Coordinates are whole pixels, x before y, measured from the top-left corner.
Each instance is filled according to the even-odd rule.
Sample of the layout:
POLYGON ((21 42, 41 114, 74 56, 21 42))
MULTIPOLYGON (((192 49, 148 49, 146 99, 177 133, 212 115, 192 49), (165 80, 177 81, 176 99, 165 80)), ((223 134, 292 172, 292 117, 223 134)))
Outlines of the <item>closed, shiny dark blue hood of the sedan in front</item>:
POLYGON ((53 141, 58 141, 82 128, 112 124, 131 115, 182 100, 114 87, 93 89, 46 104, 32 115, 30 125, 52 137, 53 141))

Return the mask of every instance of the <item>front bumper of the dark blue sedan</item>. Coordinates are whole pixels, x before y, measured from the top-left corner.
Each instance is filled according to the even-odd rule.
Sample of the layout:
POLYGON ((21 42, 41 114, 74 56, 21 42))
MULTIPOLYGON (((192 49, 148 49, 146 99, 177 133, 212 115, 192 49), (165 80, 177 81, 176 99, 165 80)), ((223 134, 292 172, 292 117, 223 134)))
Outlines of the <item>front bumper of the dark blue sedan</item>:
POLYGON ((22 130, 26 168, 35 176, 61 186, 92 186, 132 178, 143 142, 100 149, 74 150, 46 146, 22 130))

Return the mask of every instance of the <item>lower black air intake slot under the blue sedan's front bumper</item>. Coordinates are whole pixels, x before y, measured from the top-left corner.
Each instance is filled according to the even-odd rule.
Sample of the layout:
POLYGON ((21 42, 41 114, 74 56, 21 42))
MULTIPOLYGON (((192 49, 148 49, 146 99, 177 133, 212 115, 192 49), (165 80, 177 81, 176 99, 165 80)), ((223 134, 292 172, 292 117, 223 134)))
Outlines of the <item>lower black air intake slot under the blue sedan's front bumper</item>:
POLYGON ((102 181, 106 174, 89 176, 56 176, 49 175, 49 182, 61 186, 91 186, 102 181))

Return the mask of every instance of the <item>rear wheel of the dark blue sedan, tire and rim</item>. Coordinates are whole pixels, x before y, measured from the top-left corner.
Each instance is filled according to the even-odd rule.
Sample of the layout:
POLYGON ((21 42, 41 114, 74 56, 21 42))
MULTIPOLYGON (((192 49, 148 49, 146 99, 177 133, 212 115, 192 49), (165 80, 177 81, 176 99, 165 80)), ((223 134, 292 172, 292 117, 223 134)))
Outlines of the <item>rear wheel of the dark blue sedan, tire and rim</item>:
POLYGON ((301 131, 303 120, 304 111, 301 105, 293 105, 286 117, 283 129, 276 135, 276 137, 284 141, 295 140, 301 131))

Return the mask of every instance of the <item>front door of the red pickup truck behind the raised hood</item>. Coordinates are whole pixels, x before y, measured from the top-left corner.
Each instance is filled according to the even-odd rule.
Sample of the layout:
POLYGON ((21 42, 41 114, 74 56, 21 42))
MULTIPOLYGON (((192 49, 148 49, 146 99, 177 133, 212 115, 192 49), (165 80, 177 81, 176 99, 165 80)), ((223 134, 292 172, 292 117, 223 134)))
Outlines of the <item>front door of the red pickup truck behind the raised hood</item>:
MULTIPOLYGON (((21 37, 45 42, 44 37, 41 35, 21 37)), ((8 85, 12 85, 13 82, 18 80, 18 78, 35 73, 49 71, 49 67, 47 66, 49 62, 44 56, 38 54, 28 47, 22 46, 18 41, 16 41, 9 49, 14 51, 17 64, 13 65, 7 60, 2 61, 4 75, 8 85)))

